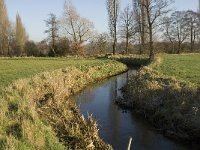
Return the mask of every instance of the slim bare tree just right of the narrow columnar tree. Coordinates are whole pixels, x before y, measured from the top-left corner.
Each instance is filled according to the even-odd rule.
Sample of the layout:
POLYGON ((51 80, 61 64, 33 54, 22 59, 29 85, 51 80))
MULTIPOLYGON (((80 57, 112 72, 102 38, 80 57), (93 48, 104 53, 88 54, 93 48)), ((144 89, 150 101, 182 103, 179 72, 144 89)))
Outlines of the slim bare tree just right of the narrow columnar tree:
POLYGON ((120 35, 121 38, 126 40, 125 51, 128 54, 128 47, 130 39, 134 35, 134 21, 133 21, 133 11, 131 7, 128 5, 124 11, 120 14, 120 35))

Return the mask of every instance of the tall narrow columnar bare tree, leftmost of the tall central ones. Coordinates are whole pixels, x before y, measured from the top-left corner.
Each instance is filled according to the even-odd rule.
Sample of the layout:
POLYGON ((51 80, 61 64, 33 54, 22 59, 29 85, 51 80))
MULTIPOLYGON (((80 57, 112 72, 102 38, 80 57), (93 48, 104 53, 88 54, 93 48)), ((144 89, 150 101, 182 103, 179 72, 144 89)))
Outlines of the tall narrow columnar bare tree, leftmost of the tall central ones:
POLYGON ((110 30, 110 35, 113 38, 113 54, 116 51, 117 45, 117 21, 119 15, 119 7, 120 1, 119 0, 107 0, 107 11, 108 11, 108 26, 110 30))

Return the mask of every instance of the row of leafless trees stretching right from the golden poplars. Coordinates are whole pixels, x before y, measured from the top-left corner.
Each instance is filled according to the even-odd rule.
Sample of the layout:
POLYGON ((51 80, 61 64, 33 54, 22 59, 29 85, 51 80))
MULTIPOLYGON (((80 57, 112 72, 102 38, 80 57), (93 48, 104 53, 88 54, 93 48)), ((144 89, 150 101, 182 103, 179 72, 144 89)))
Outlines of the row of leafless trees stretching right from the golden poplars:
POLYGON ((148 52, 153 60, 156 48, 165 47, 165 52, 180 53, 183 45, 190 43, 190 51, 194 51, 200 33, 199 14, 172 12, 171 3, 171 0, 132 0, 132 5, 120 12, 119 0, 107 0, 109 34, 97 34, 93 23, 81 17, 67 0, 62 19, 50 14, 46 21, 45 33, 51 53, 53 56, 84 54, 86 50, 106 53, 112 49, 115 54, 117 50, 129 53, 137 49, 139 54, 148 52), (62 49, 59 49, 60 44, 62 49))

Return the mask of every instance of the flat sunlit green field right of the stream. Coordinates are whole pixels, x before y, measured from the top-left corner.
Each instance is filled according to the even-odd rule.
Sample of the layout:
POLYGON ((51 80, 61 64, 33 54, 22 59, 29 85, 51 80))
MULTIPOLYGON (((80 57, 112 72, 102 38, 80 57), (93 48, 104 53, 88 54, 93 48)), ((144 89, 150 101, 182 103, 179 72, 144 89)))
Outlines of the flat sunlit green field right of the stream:
POLYGON ((200 85, 200 55, 161 55, 162 61, 155 69, 165 75, 200 85))

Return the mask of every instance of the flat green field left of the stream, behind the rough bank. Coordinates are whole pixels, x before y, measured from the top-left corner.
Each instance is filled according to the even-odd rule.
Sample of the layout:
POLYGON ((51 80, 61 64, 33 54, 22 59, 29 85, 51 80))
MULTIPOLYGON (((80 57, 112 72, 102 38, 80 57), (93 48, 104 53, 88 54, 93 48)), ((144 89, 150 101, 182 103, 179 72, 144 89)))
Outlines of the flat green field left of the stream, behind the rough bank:
POLYGON ((76 58, 0 58, 0 89, 20 78, 68 66, 95 65, 111 60, 76 58))

